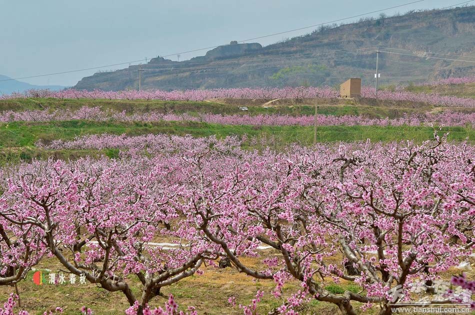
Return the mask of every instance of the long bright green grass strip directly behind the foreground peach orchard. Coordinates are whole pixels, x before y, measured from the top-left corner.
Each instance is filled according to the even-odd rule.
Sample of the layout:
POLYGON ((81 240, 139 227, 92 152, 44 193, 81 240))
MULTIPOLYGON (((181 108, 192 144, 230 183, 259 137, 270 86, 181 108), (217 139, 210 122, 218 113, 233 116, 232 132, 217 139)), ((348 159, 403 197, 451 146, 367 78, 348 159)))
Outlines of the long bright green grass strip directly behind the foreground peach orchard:
MULTIPOLYGON (((441 132, 450 132, 449 140, 475 139, 475 130, 470 126, 442 127, 441 132)), ((123 121, 48 121, 48 122, 10 122, 0 123, 0 148, 34 146, 42 140, 71 140, 75 136, 88 134, 122 134, 140 135, 167 133, 176 135, 191 134, 196 137, 217 135, 244 135, 272 139, 280 143, 299 142, 307 145, 313 141, 312 126, 251 126, 221 125, 194 121, 157 121, 157 122, 123 122, 123 121)), ((423 141, 432 136, 433 129, 428 126, 319 126, 319 142, 357 141, 370 138, 373 141, 393 141, 411 139, 423 141)))

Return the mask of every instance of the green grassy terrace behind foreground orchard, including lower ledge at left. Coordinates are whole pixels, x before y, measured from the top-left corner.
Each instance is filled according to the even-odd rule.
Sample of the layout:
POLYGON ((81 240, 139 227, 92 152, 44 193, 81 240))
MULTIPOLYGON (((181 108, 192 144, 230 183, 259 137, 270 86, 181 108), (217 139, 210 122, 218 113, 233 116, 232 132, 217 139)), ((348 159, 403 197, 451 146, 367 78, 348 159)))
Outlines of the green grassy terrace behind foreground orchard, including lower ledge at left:
MULTIPOLYGON (((279 150, 289 143, 302 145, 313 143, 311 126, 249 126, 219 125, 201 122, 112 122, 112 121, 52 121, 52 122, 12 122, 0 123, 0 166, 5 163, 31 161, 33 158, 77 159, 79 157, 98 157, 106 155, 118 157, 119 150, 114 148, 95 149, 60 149, 45 150, 35 146, 38 140, 50 142, 55 139, 71 140, 75 136, 87 134, 122 134, 139 135, 149 133, 167 133, 176 135, 191 134, 195 137, 216 135, 242 136, 244 148, 260 149, 265 143, 279 150)), ((449 132, 448 139, 462 141, 475 139, 475 129, 467 127, 443 127, 439 134, 449 132)), ((433 136, 433 129, 426 126, 319 126, 317 141, 398 141, 412 139, 424 141, 433 136)))

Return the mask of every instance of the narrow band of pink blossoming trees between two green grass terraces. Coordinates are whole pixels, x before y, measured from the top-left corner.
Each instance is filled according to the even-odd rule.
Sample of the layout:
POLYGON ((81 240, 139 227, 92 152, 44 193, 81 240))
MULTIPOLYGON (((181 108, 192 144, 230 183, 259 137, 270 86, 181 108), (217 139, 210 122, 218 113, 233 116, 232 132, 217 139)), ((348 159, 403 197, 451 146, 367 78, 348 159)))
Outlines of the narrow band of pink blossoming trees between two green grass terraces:
MULTIPOLYGON (((82 106, 77 110, 68 109, 35 109, 25 111, 5 110, 0 111, 0 122, 12 121, 64 121, 64 120, 95 120, 95 121, 201 121, 207 123, 230 124, 230 125, 301 125, 314 124, 313 115, 289 115, 289 114, 212 114, 199 113, 190 115, 187 113, 158 113, 158 112, 135 112, 127 114, 125 111, 101 110, 100 107, 82 106)), ((399 125, 443 125, 464 126, 475 124, 475 112, 444 111, 440 113, 403 114, 399 118, 368 118, 362 115, 317 115, 318 125, 376 125, 376 126, 399 126, 399 125)))

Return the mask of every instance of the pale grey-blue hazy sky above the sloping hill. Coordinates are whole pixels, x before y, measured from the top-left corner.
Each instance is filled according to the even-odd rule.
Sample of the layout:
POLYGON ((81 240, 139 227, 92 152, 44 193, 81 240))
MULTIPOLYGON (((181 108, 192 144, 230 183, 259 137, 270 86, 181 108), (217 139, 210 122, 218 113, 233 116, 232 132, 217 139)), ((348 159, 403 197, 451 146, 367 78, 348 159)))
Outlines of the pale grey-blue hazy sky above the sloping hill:
MULTIPOLYGON (((327 22, 410 1, 0 0, 0 74, 22 77, 150 58, 327 22)), ((438 8, 462 1, 424 0, 385 13, 438 8)), ((309 31, 311 29, 276 35, 258 42, 266 45, 309 31)), ((181 54, 180 60, 204 53, 181 54)), ((168 58, 176 60, 176 56, 168 58)), ((124 67, 127 64, 104 69, 124 67)), ((96 71, 22 81, 73 85, 96 71)))

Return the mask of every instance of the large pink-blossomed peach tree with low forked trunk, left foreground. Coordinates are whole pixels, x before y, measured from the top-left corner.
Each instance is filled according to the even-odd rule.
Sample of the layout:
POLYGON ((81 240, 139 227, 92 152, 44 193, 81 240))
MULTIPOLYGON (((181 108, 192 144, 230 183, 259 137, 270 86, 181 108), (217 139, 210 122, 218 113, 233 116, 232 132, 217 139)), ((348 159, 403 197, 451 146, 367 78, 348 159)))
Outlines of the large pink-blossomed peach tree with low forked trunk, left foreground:
POLYGON ((11 169, 0 199, 2 221, 12 231, 41 235, 24 236, 28 244, 20 238, 26 248, 21 255, 36 247, 47 251, 70 273, 122 292, 132 306, 138 300, 141 313, 161 287, 216 258, 168 205, 176 194, 177 166, 166 158, 155 162, 48 160, 11 169), (179 248, 149 244, 165 237, 187 243, 179 248), (140 296, 131 290, 127 279, 132 276, 141 283, 140 296))

